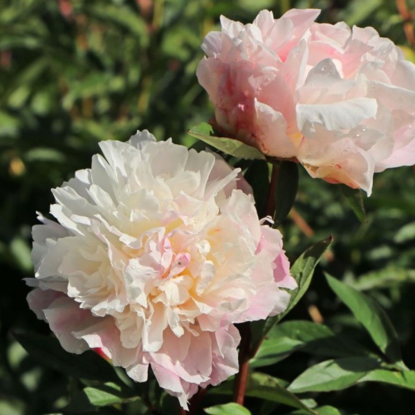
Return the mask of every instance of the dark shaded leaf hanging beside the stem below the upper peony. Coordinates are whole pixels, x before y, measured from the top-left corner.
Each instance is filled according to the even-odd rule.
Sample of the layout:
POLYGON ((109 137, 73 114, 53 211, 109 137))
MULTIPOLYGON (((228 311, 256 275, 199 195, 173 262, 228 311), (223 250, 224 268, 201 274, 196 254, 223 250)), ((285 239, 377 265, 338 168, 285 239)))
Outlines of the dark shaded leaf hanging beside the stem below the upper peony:
POLYGON ((275 212, 274 227, 286 219, 295 202, 298 190, 298 165, 292 161, 280 161, 273 163, 275 183, 275 212))

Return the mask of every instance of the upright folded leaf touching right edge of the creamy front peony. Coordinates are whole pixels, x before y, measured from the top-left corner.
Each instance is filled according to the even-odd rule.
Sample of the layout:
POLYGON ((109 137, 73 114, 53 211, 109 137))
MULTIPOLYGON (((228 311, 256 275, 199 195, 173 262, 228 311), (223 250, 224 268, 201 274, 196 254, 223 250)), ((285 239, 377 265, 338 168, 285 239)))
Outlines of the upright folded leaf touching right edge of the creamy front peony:
POLYGON ((268 317, 266 320, 259 322, 253 322, 250 324, 252 334, 252 350, 256 350, 259 347, 262 339, 266 336, 266 333, 277 324, 282 318, 284 318, 291 309, 299 302, 301 297, 306 293, 308 286, 311 283, 311 278, 317 266, 318 262, 324 255, 324 252, 329 248, 333 237, 323 239, 320 242, 315 243, 310 248, 306 249, 302 255, 299 256, 297 261, 291 267, 291 275, 294 277, 298 284, 295 290, 291 290, 291 299, 288 303, 286 310, 283 313, 275 315, 275 317, 268 317))

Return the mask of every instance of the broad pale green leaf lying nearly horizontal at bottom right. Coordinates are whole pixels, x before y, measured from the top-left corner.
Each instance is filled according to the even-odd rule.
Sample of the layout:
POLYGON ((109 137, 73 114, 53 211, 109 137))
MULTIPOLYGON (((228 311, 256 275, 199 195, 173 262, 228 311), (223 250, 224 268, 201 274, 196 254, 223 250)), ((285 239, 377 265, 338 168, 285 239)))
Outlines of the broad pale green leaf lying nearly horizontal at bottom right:
POLYGON ((355 385, 369 371, 380 368, 380 360, 368 357, 331 359, 314 365, 288 387, 295 393, 338 391, 355 385))

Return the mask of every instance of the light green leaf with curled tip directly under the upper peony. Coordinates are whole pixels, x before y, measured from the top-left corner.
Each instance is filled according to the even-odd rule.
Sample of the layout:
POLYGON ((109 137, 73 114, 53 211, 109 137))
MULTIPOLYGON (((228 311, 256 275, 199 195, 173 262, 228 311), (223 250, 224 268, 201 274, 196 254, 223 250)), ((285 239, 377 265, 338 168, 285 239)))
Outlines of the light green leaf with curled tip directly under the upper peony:
POLYGON ((191 136, 199 138, 199 140, 206 142, 215 149, 223 151, 225 154, 230 154, 230 156, 246 158, 249 160, 265 160, 264 154, 255 147, 251 147, 234 138, 215 136, 212 125, 207 122, 201 122, 201 124, 192 127, 188 132, 191 136))

